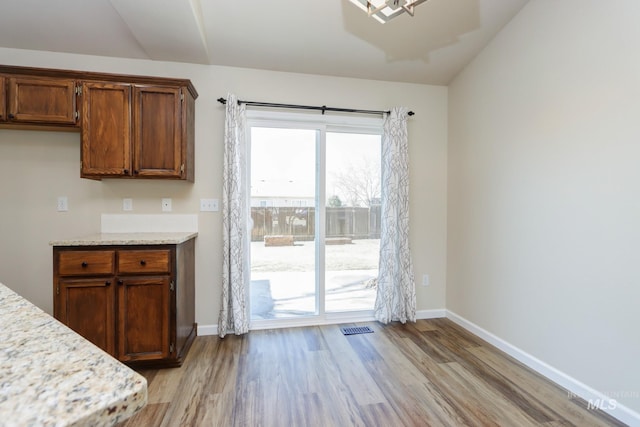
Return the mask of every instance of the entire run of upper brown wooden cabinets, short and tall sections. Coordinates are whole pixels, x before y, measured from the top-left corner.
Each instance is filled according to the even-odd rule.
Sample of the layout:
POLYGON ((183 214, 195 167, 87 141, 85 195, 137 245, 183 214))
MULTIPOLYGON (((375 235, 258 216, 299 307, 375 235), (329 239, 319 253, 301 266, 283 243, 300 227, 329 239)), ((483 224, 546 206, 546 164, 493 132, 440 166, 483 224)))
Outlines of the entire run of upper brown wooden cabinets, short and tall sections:
POLYGON ((83 178, 194 181, 189 80, 0 65, 1 127, 76 129, 83 178))

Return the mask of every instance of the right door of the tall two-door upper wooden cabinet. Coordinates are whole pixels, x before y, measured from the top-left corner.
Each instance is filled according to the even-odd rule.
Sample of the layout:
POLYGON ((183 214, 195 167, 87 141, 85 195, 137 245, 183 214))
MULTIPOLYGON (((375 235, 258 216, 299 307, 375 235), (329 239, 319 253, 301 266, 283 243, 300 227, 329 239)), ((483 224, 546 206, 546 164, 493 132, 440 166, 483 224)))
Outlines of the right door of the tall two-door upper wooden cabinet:
POLYGON ((180 88, 134 88, 134 175, 182 178, 184 175, 180 88))

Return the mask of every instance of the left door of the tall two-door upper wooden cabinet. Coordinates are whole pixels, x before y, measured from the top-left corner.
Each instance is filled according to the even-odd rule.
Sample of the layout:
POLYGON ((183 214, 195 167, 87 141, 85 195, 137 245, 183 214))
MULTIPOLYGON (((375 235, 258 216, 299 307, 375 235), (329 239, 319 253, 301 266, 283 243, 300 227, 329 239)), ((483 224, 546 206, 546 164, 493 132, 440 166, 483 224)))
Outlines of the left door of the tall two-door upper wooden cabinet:
POLYGON ((82 85, 83 177, 131 175, 131 86, 82 85))

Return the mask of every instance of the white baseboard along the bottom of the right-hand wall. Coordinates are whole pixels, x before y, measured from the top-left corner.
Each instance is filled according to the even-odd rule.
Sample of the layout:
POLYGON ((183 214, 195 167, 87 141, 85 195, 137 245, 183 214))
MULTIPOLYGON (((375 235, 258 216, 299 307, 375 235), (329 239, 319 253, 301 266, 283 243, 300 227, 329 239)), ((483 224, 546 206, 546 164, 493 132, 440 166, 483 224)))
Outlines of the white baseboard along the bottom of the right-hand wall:
POLYGON ((555 382, 567 389, 570 393, 581 397, 587 402, 600 403, 600 409, 607 414, 615 417, 629 426, 640 426, 640 414, 621 405, 619 402, 612 401, 609 396, 589 387, 588 385, 576 380, 573 377, 565 374, 564 372, 554 368, 551 365, 537 359, 529 353, 522 351, 518 347, 508 343, 502 338, 492 334, 491 332, 481 328, 473 322, 468 321, 464 317, 457 315, 451 310, 446 310, 446 317, 456 324, 462 326, 472 334, 482 338, 498 349, 504 351, 509 356, 517 359, 521 363, 525 364, 529 368, 545 376, 549 380, 555 382), (611 404, 609 404, 611 402, 611 404))

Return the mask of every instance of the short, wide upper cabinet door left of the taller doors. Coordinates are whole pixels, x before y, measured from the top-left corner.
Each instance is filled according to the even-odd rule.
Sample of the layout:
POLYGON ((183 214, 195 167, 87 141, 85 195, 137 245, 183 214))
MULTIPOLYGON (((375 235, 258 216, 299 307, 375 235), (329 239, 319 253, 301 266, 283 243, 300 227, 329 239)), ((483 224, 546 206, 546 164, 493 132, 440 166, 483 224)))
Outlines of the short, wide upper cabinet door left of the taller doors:
POLYGON ((75 125, 76 82, 53 77, 9 77, 10 122, 75 125))

